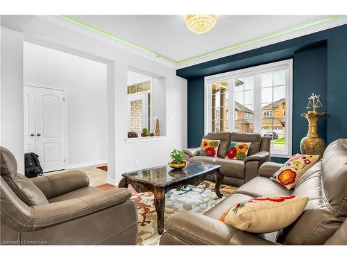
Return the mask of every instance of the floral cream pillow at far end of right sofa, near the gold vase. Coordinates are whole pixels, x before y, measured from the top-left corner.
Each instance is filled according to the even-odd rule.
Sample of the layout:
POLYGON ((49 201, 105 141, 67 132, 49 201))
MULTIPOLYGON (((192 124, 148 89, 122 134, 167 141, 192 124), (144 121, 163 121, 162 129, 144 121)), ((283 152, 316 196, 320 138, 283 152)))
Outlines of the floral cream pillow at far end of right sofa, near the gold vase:
POLYGON ((319 155, 293 155, 270 179, 282 184, 287 189, 295 187, 300 177, 318 162, 319 155))

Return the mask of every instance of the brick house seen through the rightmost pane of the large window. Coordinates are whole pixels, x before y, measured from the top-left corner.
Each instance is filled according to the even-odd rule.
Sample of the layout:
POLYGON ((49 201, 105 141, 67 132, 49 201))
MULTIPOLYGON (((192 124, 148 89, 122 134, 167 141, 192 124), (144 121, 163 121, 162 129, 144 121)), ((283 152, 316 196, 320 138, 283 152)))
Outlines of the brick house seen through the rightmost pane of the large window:
POLYGON ((285 98, 262 107, 262 135, 276 132, 278 138, 285 135, 285 98))

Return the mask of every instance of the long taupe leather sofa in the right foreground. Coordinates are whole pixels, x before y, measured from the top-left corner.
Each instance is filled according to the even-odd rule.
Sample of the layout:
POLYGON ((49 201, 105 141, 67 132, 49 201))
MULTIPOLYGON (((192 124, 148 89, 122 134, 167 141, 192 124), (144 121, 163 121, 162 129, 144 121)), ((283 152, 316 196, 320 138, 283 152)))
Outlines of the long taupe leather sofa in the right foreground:
POLYGON ((281 164, 262 164, 259 175, 226 200, 205 212, 169 216, 161 245, 347 245, 347 139, 326 148, 323 159, 288 190, 269 179, 281 164), (285 229, 251 234, 218 220, 235 203, 260 196, 294 195, 310 198, 305 211, 285 229))

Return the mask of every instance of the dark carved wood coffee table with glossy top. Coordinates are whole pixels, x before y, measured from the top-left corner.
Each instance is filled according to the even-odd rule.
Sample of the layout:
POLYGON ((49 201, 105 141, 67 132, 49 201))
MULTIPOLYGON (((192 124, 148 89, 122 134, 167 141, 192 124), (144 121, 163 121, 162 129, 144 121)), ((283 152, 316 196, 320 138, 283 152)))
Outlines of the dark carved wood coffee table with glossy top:
POLYGON ((158 234, 164 232, 164 209, 165 193, 171 189, 180 189, 187 185, 198 185, 206 177, 216 174, 217 181, 214 191, 221 198, 223 195, 219 187, 223 182, 224 175, 221 166, 217 164, 205 164, 191 162, 181 171, 176 171, 169 166, 146 168, 141 171, 123 173, 119 182, 119 188, 127 188, 128 184, 137 192, 151 191, 154 193, 154 205, 157 211, 158 234))

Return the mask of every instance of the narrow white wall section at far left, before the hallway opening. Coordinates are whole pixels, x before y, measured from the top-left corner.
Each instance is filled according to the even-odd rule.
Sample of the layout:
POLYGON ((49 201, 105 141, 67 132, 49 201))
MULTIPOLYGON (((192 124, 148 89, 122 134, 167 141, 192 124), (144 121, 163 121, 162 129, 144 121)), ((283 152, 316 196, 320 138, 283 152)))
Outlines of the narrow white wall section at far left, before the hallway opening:
POLYGON ((23 35, 1 27, 1 146, 24 174, 23 35))

